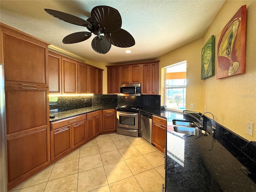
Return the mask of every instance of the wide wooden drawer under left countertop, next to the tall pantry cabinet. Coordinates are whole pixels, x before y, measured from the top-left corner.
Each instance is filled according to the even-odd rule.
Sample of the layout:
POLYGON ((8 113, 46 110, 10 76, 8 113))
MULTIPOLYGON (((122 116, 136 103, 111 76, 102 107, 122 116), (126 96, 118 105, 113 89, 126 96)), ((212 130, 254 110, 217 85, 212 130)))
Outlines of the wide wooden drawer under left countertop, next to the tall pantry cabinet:
POLYGON ((84 115, 78 115, 78 116, 74 116, 74 117, 70 117, 70 118, 66 118, 66 119, 62 119, 62 120, 58 120, 55 122, 51 122, 50 123, 50 129, 51 130, 55 130, 64 126, 68 126, 74 123, 77 123, 79 121, 82 120, 86 120, 86 114, 84 115))

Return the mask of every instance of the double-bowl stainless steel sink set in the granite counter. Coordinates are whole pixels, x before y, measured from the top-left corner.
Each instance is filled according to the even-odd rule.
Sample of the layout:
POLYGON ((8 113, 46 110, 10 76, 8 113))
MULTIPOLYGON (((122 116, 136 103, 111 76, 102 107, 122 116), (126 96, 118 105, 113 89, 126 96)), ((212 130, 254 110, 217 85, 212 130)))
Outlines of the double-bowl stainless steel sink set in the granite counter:
POLYGON ((196 122, 188 120, 172 120, 173 129, 177 133, 183 133, 186 135, 196 135, 196 136, 209 136, 210 134, 205 130, 198 128, 196 122))

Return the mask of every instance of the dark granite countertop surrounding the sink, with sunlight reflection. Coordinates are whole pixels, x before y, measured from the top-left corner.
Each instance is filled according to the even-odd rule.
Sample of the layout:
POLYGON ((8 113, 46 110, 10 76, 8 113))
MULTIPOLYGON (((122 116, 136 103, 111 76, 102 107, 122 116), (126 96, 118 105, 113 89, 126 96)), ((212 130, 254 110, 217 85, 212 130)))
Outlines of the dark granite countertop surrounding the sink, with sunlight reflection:
POLYGON ((167 192, 256 191, 256 163, 221 134, 216 132, 216 139, 179 134, 172 119, 184 119, 182 113, 141 110, 167 119, 167 192))

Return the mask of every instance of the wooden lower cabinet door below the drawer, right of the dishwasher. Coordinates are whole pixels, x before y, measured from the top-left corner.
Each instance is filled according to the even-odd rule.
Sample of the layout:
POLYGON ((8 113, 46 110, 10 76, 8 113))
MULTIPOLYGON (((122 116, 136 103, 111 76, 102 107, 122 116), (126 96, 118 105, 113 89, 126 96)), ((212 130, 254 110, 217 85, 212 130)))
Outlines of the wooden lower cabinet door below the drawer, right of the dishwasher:
POLYGON ((161 152, 164 152, 166 140, 166 127, 153 122, 152 126, 152 143, 158 148, 161 152))

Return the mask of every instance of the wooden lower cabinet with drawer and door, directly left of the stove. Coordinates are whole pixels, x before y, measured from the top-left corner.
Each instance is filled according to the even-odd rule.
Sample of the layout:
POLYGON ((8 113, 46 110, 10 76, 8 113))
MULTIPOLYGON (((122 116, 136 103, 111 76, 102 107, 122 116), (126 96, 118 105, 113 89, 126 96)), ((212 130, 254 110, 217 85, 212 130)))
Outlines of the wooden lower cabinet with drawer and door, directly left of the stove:
POLYGON ((115 109, 102 110, 102 132, 116 130, 116 111, 115 109))

